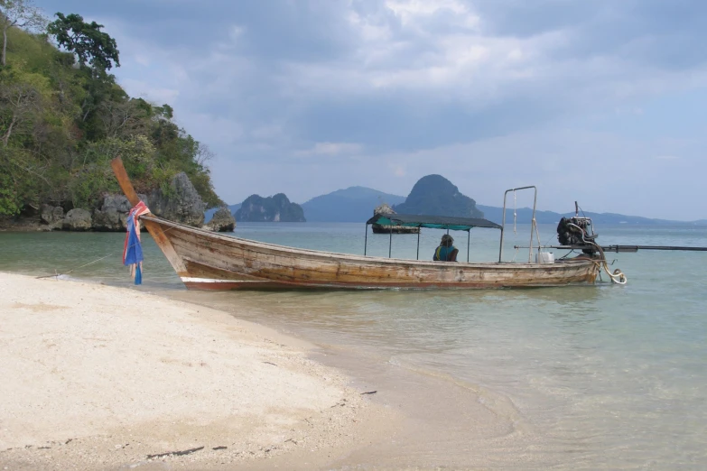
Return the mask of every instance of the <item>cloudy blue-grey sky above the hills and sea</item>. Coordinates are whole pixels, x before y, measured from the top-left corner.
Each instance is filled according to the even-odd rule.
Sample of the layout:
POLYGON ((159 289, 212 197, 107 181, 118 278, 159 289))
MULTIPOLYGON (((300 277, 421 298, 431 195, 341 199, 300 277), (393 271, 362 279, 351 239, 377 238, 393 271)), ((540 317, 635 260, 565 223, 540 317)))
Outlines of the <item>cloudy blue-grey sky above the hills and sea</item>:
POLYGON ((479 204, 707 218, 703 0, 36 0, 105 25, 229 204, 438 173, 479 204), (518 205, 532 205, 518 193, 518 205))

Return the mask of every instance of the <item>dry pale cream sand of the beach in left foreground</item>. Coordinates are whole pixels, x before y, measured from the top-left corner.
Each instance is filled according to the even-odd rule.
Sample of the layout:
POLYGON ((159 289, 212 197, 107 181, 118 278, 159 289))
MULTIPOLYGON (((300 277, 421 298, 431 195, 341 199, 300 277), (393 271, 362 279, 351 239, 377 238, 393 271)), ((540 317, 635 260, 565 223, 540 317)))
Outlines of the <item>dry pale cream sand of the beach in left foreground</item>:
POLYGON ((2 469, 309 469, 395 411, 215 309, 0 273, 2 469))

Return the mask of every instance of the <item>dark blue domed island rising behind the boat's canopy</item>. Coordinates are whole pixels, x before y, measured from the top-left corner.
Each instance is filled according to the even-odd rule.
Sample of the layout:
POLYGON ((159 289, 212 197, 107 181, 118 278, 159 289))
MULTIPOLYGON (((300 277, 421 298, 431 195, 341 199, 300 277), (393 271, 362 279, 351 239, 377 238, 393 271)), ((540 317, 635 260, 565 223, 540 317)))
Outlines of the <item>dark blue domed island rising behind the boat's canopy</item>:
POLYGON ((462 195, 442 175, 427 175, 417 180, 405 203, 395 205, 394 209, 399 214, 484 217, 484 213, 476 207, 476 201, 462 195))

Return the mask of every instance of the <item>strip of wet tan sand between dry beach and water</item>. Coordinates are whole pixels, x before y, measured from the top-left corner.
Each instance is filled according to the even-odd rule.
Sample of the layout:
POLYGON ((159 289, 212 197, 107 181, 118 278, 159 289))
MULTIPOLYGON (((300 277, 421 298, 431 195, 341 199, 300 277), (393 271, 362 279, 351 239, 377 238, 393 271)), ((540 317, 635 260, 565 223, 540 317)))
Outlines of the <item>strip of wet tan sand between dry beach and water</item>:
MULTIPOLYGON (((396 423, 377 439, 352 449, 331 469, 547 469, 565 468, 567 455, 548 447, 546 437, 504 394, 465 383, 432 369, 421 369, 366 343, 340 343, 326 330, 292 328, 297 319, 319 315, 312 303, 294 306, 265 302, 257 293, 163 291, 171 299, 258 319, 288 335, 306 337, 318 347, 311 357, 347 374, 372 401, 394 411, 396 423), (237 307, 234 301, 237 300, 237 307), (247 309, 244 309, 247 307, 247 309)), ((336 303, 334 303, 335 305, 336 303)), ((328 309, 342 309, 330 306, 328 309)), ((356 322, 353 320, 353 322, 356 322)), ((340 326, 346 329, 350 326, 340 326)), ((359 339, 360 341, 361 339, 359 339)))

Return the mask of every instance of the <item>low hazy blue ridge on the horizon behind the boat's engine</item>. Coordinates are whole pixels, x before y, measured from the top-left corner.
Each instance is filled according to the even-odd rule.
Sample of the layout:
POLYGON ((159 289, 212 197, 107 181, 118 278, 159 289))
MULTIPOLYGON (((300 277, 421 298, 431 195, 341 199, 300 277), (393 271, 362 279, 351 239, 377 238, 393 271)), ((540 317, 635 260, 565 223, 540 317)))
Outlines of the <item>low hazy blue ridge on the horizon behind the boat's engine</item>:
MULTIPOLYGON (((501 218, 503 216, 503 208, 497 208, 493 206, 483 206, 479 205, 486 218, 489 221, 501 224, 501 218)), ((533 218, 532 208, 517 208, 516 209, 517 222, 520 224, 530 224, 533 218)), ((697 225, 703 226, 707 225, 707 220, 700 221, 671 221, 668 219, 652 219, 649 217, 640 216, 626 216, 623 214, 616 213, 592 213, 592 212, 581 212, 580 215, 586 215, 591 217, 592 222, 596 224, 635 224, 635 225, 645 225, 645 226, 671 226, 671 225, 697 225)), ((570 213, 555 213, 554 211, 535 211, 535 221, 538 224, 557 224, 560 222, 562 217, 572 217, 574 212, 570 213)), ((513 222, 513 208, 506 208, 506 222, 513 222)))

